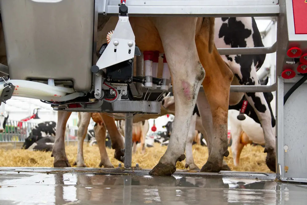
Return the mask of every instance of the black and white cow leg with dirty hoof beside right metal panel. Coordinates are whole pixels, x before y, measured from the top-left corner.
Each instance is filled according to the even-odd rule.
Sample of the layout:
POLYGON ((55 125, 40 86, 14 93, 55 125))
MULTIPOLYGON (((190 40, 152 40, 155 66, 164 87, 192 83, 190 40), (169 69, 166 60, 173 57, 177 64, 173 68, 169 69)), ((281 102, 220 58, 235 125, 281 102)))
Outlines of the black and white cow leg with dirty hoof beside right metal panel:
MULTIPOLYGON (((236 56, 238 57, 238 56, 236 56)), ((231 69, 238 78, 241 85, 260 85, 255 65, 253 63, 252 56, 241 55, 242 62, 249 62, 248 65, 235 64, 231 66, 231 69)), ((264 140, 266 143, 264 152, 266 155, 266 165, 271 171, 276 171, 276 145, 275 136, 272 129, 272 116, 268 104, 264 98, 263 93, 244 93, 247 101, 254 108, 263 129, 264 140)))

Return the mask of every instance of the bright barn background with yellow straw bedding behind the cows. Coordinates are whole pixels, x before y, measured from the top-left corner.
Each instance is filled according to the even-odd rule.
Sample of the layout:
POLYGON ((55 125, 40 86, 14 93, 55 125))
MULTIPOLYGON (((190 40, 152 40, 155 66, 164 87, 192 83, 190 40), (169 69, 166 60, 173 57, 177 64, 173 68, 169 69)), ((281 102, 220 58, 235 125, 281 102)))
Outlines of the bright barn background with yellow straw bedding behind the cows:
MULTIPOLYGON (((255 18, 259 31, 262 34, 262 42, 264 46, 271 46, 276 41, 276 25, 274 18, 270 17, 259 17, 255 18)), ((261 69, 258 70, 258 76, 263 73, 267 73, 269 76, 268 85, 272 85, 275 82, 275 59, 276 53, 266 54, 266 59, 261 69)), ((275 96, 275 92, 273 92, 275 96)), ((17 126, 21 119, 25 119, 33 114, 33 110, 38 108, 39 119, 28 120, 26 124, 26 129, 22 134, 12 133, 10 138, 5 137, 0 133, 0 167, 52 167, 53 158, 50 156, 50 152, 31 152, 28 150, 21 150, 21 145, 23 144, 25 138, 29 135, 31 127, 35 126, 40 122, 44 121, 57 121, 57 112, 53 111, 49 104, 42 103, 39 100, 21 97, 12 97, 10 101, 6 104, 2 103, 0 106, 0 112, 2 116, 9 115, 8 124, 11 126, 17 126)), ((155 119, 155 125, 157 131, 166 131, 162 128, 170 118, 167 116, 161 116, 155 119)), ((73 112, 67 123, 66 132, 66 152, 68 155, 68 160, 71 164, 76 159, 76 136, 77 136, 77 112, 73 112)), ((153 126, 153 119, 149 120, 150 128, 153 126)), ((2 126, 1 122, 1 126, 2 126)), ((92 129, 94 122, 91 119, 88 129, 92 129)), ((228 130, 231 127, 228 125, 228 130)), ((151 129, 147 135, 152 135, 151 129)), ((145 169, 151 169, 155 164, 157 164, 160 157, 165 152, 166 147, 160 146, 160 144, 155 144, 152 148, 146 148, 146 153, 143 155, 138 148, 137 153, 132 156, 132 165, 136 163, 140 167, 145 169)), ((230 155, 225 160, 227 161, 229 167, 233 171, 262 171, 269 172, 270 170, 266 167, 265 156, 261 146, 251 146, 247 145, 240 157, 240 166, 235 167, 233 165, 231 150, 230 155)), ((114 150, 107 148, 108 155, 112 164, 117 167, 119 161, 115 160, 113 157, 114 150)), ((200 145, 193 145, 193 156, 196 164, 201 167, 208 157, 207 147, 200 145)), ((99 165, 99 151, 97 146, 89 146, 88 142, 84 144, 84 158, 85 163, 88 167, 98 167, 99 165)), ((184 168, 185 161, 183 163, 177 163, 177 168, 184 168)))

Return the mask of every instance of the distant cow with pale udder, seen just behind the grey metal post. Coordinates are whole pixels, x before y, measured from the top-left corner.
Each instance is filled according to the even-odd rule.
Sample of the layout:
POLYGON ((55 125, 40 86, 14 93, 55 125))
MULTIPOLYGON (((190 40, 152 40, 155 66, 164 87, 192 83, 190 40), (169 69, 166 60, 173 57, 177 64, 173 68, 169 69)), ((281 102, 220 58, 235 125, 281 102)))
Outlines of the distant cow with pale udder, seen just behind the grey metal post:
MULTIPOLYGON (((125 136, 125 120, 117 120, 119 131, 125 136)), ((142 153, 145 153, 145 140, 149 130, 148 120, 132 124, 132 154, 136 152, 137 144, 141 144, 142 153)))

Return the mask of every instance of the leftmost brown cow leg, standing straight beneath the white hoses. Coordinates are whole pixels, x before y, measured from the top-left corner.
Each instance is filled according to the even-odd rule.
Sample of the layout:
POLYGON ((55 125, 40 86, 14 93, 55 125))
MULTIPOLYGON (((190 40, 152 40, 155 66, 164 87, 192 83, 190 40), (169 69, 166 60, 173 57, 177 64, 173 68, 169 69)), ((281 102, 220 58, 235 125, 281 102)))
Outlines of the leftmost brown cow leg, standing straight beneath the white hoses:
POLYGON ((58 111, 56 124, 56 140, 53 145, 51 156, 54 157, 54 167, 71 167, 65 153, 65 130, 66 123, 72 112, 58 111))

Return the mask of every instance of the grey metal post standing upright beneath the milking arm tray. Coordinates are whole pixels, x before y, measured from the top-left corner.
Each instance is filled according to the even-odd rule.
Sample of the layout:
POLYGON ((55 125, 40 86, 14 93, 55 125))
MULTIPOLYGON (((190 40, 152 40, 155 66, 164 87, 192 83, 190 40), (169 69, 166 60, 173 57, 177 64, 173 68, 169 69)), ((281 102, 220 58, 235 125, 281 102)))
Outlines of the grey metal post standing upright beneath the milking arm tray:
POLYGON ((129 117, 130 113, 126 113, 125 119, 125 154, 124 154, 124 167, 131 168, 132 163, 132 118, 129 117))

